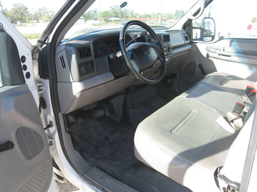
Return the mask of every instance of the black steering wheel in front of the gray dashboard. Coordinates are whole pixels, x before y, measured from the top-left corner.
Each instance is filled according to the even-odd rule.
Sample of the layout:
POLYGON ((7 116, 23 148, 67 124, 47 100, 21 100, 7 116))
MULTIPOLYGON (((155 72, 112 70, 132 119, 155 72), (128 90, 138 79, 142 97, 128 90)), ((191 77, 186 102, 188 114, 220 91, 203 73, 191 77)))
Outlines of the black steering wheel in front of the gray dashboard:
MULTIPOLYGON (((120 49, 123 61, 128 70, 135 75, 135 77, 144 83, 155 84, 158 83, 164 76, 166 71, 166 60, 164 50, 160 39, 156 33, 145 23, 139 20, 131 20, 127 22, 120 32, 120 49), (150 45, 146 42, 135 42, 126 48, 125 34, 128 27, 137 25, 145 29, 154 38, 155 44, 150 45), (153 69, 157 60, 160 61, 160 72, 157 77, 145 78, 144 71, 153 69)), ((153 69, 154 71, 154 69, 153 69)))

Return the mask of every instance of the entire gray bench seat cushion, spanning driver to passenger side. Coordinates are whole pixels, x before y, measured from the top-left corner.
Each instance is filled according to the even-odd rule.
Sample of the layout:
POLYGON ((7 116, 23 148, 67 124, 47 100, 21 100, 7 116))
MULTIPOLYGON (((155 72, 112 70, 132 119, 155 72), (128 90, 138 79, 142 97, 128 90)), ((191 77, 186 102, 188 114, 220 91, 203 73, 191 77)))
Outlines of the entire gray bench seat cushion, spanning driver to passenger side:
POLYGON ((221 73, 206 76, 138 125, 135 156, 193 191, 219 191, 213 174, 224 165, 237 134, 216 120, 243 102, 249 83, 221 73), (233 83, 224 87, 224 80, 233 83))

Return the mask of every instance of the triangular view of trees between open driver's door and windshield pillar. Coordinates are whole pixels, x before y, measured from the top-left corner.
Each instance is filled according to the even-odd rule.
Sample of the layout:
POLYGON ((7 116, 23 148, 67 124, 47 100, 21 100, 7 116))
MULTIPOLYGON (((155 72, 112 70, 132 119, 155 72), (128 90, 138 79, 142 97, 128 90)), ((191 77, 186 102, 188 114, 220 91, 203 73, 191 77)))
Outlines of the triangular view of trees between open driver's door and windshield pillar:
POLYGON ((64 3, 65 0, 0 0, 0 11, 34 45, 64 3))

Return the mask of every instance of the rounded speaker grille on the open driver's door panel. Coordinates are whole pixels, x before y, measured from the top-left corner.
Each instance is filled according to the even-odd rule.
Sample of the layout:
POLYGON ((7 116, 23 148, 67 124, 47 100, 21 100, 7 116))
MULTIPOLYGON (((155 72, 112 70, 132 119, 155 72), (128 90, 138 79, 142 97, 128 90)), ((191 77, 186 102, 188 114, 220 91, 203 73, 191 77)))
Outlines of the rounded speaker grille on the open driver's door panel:
POLYGON ((22 126, 18 128, 15 132, 15 136, 20 150, 27 160, 33 159, 44 149, 42 136, 29 127, 22 126))

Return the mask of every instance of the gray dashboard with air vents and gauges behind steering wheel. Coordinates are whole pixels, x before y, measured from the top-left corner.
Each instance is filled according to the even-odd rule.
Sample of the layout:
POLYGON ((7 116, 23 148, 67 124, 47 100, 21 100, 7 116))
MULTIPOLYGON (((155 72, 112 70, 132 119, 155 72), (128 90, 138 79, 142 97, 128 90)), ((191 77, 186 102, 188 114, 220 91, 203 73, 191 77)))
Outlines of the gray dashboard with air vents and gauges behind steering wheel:
MULTIPOLYGON (((143 30, 128 29, 125 42, 132 40, 143 30)), ((179 69, 187 58, 191 45, 183 30, 158 31, 166 56, 166 75, 179 69)), ((122 57, 111 55, 120 51, 120 29, 96 31, 62 42, 56 48, 58 92, 63 114, 118 93, 134 84, 142 83, 126 68, 122 57)), ((149 33, 134 42, 154 44, 149 33)), ((155 78, 160 65, 145 70, 144 76, 155 78)))

